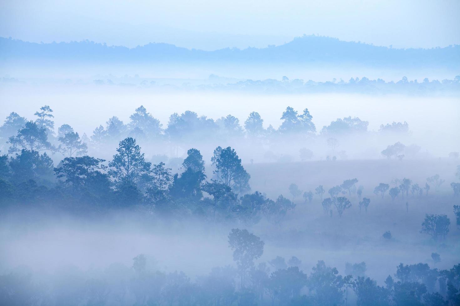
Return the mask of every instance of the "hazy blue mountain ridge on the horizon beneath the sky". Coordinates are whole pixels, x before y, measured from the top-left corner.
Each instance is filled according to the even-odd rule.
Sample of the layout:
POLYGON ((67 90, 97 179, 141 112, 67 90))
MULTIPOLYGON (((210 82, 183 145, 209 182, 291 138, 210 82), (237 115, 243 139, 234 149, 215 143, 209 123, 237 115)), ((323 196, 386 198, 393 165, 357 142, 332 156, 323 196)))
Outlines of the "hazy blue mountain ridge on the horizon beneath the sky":
POLYGON ((367 66, 460 67, 460 45, 431 49, 393 49, 361 42, 304 35, 283 45, 241 50, 225 48, 214 51, 187 49, 165 43, 150 43, 136 48, 108 46, 93 41, 69 43, 31 43, 0 37, 0 61, 11 59, 53 59, 75 61, 230 61, 293 63, 358 63, 367 66))

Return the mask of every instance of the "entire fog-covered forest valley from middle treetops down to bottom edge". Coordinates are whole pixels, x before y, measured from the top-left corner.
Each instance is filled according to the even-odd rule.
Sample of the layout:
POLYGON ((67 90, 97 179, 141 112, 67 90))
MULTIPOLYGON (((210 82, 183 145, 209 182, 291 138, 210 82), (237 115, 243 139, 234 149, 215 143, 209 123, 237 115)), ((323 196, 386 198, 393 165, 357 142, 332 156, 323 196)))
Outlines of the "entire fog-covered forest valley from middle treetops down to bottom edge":
POLYGON ((278 128, 163 126, 139 106, 80 135, 55 115, 0 128, 5 305, 459 302, 459 152, 408 122, 317 128, 288 106, 278 128))

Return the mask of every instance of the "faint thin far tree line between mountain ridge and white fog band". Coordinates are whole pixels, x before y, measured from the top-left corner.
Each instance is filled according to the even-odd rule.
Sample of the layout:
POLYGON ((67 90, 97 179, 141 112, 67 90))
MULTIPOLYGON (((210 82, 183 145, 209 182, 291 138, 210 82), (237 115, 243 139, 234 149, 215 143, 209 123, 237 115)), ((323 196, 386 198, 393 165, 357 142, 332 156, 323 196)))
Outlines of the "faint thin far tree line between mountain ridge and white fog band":
MULTIPOLYGON (((200 82, 200 81, 198 81, 200 82)), ((12 78, 9 75, 0 78, 0 86, 13 84, 29 83, 22 78, 12 78)), ((35 83, 35 82, 32 82, 35 83)), ((389 81, 379 78, 371 80, 369 78, 350 78, 348 81, 342 79, 333 79, 326 82, 315 82, 312 80, 304 81, 302 79, 290 80, 284 76, 281 80, 265 79, 237 81, 236 79, 227 79, 211 74, 207 80, 201 80, 201 83, 177 83, 172 84, 169 81, 156 78, 141 78, 138 75, 134 77, 124 76, 116 77, 114 75, 99 76, 92 81, 82 82, 81 80, 72 81, 67 79, 63 86, 72 84, 89 85, 89 86, 115 86, 131 87, 155 92, 170 91, 239 91, 248 93, 261 94, 314 94, 314 93, 358 93, 358 94, 403 94, 403 95, 453 95, 460 94, 460 75, 453 79, 443 79, 441 81, 424 78, 423 81, 409 80, 403 77, 399 81, 389 81), (227 83, 227 80, 230 81, 227 83)))

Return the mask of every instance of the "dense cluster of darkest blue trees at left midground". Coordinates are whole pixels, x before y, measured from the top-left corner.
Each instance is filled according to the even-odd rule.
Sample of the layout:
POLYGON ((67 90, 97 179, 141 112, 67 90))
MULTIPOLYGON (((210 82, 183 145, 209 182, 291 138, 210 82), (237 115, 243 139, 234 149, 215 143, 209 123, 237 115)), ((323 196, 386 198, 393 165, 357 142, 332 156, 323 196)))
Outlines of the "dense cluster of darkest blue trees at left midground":
POLYGON ((48 141, 46 128, 38 122, 26 122, 16 136, 9 138, 8 152, 17 153, 0 159, 3 205, 46 203, 89 213, 141 207, 149 212, 211 216, 214 221, 237 218, 244 223, 257 223, 262 214, 277 222, 295 207, 282 195, 271 200, 259 192, 246 194, 250 175, 230 147, 214 150, 213 178, 207 180, 203 158, 196 149, 187 151, 183 172, 173 174, 163 162, 152 165, 145 161, 144 153, 131 137, 119 143, 117 154, 106 163, 104 159, 78 156, 86 150, 81 140, 71 145, 65 142, 75 139, 76 133, 63 134, 62 129, 59 133, 62 147, 48 141), (54 167, 46 153, 52 150, 66 150, 69 156, 54 167), (204 197, 203 192, 212 198, 204 197))

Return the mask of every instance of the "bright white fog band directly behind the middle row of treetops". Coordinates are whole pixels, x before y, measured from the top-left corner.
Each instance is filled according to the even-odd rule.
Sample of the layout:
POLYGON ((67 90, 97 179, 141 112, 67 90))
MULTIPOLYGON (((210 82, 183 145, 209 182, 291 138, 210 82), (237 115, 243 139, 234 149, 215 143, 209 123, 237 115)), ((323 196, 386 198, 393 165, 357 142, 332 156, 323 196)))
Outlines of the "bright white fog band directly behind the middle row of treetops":
MULTIPOLYGON (((454 141, 460 138, 458 120, 460 106, 456 96, 260 95, 209 90, 164 93, 155 89, 143 88, 18 84, 3 87, 2 97, 4 107, 0 110, 0 117, 4 118, 11 111, 16 111, 24 117, 32 118, 33 113, 40 106, 52 105, 54 114, 56 114, 55 125, 57 127, 67 123, 75 128, 75 131, 80 134, 86 133, 88 136, 92 134, 94 128, 100 124, 104 125, 104 122, 112 116, 120 118, 123 122, 129 122, 129 116, 141 105, 160 120, 165 128, 171 114, 175 112, 181 114, 188 110, 214 120, 230 114, 238 118, 240 122, 244 122, 250 112, 257 111, 264 120, 264 128, 268 128, 270 124, 278 128, 282 122, 280 119, 282 112, 287 106, 291 106, 297 111, 302 111, 307 107, 318 130, 337 118, 348 116, 368 121, 368 131, 378 131, 381 124, 406 121, 411 131, 410 136, 397 135, 391 138, 395 140, 394 142, 407 139, 407 143, 420 145, 435 157, 446 156, 451 151, 459 150, 458 142, 454 141), (78 107, 75 107, 77 105, 78 107), (116 107, 113 107, 114 105, 116 107)), ((229 145, 237 144, 230 141, 229 145)), ((299 145, 305 146, 306 144, 299 145)), ((187 148, 184 149, 187 150, 187 148)), ((288 154, 288 152, 282 153, 288 154)), ((379 155, 380 150, 377 156, 373 157, 379 155)))

